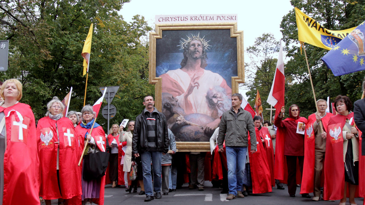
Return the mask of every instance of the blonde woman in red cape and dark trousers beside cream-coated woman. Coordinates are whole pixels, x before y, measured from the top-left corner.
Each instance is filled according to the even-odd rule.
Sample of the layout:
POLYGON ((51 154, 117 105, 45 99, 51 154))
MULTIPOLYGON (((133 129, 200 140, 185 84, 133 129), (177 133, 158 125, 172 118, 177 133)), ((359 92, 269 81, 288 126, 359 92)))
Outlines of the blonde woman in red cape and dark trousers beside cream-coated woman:
POLYGON ((108 142, 111 147, 110 155, 109 155, 109 166, 107 168, 107 173, 109 174, 109 180, 105 184, 109 184, 112 182, 112 188, 116 187, 116 182, 118 180, 118 147, 119 147, 119 132, 120 128, 118 124, 112 125, 112 128, 109 131, 108 142), (115 141, 114 141, 115 140, 115 141), (113 144, 116 144, 115 147, 113 144))

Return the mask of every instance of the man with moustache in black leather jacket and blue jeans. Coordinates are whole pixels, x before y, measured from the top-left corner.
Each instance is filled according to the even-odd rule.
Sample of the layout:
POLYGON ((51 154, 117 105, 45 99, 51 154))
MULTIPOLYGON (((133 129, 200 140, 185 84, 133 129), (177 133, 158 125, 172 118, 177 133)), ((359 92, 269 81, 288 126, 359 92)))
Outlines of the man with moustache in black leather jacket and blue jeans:
POLYGON ((132 154, 135 157, 141 155, 145 201, 153 200, 151 160, 155 198, 161 198, 161 156, 169 151, 166 118, 157 111, 154 104, 152 96, 143 99, 146 108, 136 118, 132 138, 132 154))

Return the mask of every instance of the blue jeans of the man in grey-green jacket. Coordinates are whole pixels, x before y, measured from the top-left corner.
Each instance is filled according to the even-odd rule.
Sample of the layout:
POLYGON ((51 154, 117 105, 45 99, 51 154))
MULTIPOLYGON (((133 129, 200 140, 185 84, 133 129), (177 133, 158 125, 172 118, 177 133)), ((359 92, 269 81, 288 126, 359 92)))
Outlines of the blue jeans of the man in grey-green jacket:
POLYGON ((245 175, 247 147, 226 146, 229 193, 237 195, 241 191, 245 175))

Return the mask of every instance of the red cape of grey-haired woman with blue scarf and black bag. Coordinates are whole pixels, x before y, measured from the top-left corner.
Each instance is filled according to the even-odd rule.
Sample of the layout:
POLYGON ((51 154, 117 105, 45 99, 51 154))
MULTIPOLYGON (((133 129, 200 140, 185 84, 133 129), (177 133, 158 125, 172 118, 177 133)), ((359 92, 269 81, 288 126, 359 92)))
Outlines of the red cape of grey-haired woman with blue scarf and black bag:
MULTIPOLYGON (((76 135, 77 135, 77 137, 78 137, 78 139, 80 141, 80 145, 81 145, 81 148, 80 148, 81 151, 80 151, 80 153, 82 153, 82 150, 84 149, 85 134, 87 132, 90 133, 90 130, 91 129, 86 129, 84 127, 81 127, 80 125, 77 125, 75 127, 75 132, 76 132, 76 135)), ((106 143, 107 142, 107 138, 105 138, 105 132, 104 132, 103 128, 101 126, 94 127, 92 129, 91 136, 95 139, 95 143, 96 143, 97 147, 99 148, 99 150, 100 151, 104 151, 106 149, 106 146, 107 146, 107 143, 106 143), (100 139, 104 143, 101 143, 100 142, 100 139), (101 145, 103 147, 101 147, 101 145)), ((81 170, 80 170, 80 172, 81 172, 81 170)), ((104 205, 104 186, 105 186, 105 175, 103 177, 101 177, 101 179, 100 179, 100 198, 93 199, 93 202, 95 204, 104 205)))

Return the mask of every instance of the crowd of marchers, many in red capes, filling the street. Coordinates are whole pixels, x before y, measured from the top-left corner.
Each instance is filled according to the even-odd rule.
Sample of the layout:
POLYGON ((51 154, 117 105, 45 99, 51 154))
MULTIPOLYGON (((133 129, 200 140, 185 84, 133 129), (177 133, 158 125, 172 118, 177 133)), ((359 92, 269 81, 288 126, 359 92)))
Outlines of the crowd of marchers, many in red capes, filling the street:
POLYGON ((244 198, 250 189, 285 189, 283 184, 290 197, 299 186, 302 197, 314 193, 313 201, 340 200, 340 205, 347 198, 354 205, 354 198, 365 194, 365 99, 356 101, 352 112, 349 97, 337 96, 336 115, 327 113, 327 102, 319 99, 318 112, 308 119, 300 116, 297 105, 284 118, 282 107, 270 125, 245 111, 242 95, 236 93, 210 139, 211 152, 176 157, 175 136, 154 107, 153 96, 143 99, 145 109, 127 127, 114 124, 106 135, 90 105, 64 117, 65 106, 54 97, 36 126, 30 106, 19 102, 19 80, 6 80, 0 95, 0 204, 40 204, 42 197, 48 205, 51 200, 102 205, 107 184, 124 185, 130 193, 139 185, 144 201, 160 199, 184 182, 204 191, 207 159, 210 180, 228 194, 227 200, 244 198), (179 163, 187 169, 178 169, 179 163))

